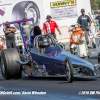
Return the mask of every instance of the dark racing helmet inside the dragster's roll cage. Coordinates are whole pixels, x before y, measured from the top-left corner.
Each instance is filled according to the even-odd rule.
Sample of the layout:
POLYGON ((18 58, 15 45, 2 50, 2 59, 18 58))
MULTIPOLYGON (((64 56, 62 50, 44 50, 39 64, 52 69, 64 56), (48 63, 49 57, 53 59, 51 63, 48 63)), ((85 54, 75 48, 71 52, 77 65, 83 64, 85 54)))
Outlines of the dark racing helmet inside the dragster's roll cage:
POLYGON ((51 44, 49 37, 41 37, 39 39, 39 47, 40 48, 46 48, 49 47, 51 44))

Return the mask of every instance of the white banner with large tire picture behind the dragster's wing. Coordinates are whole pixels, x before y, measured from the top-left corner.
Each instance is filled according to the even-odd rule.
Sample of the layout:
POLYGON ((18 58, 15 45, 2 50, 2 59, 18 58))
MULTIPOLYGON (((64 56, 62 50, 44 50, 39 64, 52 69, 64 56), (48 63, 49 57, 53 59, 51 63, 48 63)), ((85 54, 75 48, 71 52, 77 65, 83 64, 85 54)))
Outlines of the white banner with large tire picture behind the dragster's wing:
MULTIPOLYGON (((1 0, 0 2, 0 35, 4 34, 3 24, 6 21, 23 20, 23 18, 34 18, 34 24, 43 27, 43 6, 42 0, 1 0), (23 6, 22 6, 23 5, 23 6)), ((29 21, 33 26, 32 21, 29 21)), ((19 31, 18 24, 12 24, 19 31)))

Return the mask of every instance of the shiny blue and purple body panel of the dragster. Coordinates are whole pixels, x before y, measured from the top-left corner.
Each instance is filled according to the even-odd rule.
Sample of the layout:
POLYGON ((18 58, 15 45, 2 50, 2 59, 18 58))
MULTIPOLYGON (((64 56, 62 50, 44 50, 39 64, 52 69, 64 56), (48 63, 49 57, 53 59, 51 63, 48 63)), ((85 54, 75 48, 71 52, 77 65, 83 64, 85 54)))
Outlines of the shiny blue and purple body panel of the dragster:
POLYGON ((34 49, 32 48, 30 52, 32 60, 35 60, 39 65, 44 64, 49 74, 65 74, 64 62, 66 58, 69 58, 73 68, 74 66, 82 66, 88 69, 92 75, 97 75, 93 64, 62 50, 59 46, 47 48, 44 54, 41 54, 39 51, 35 53, 34 49))

